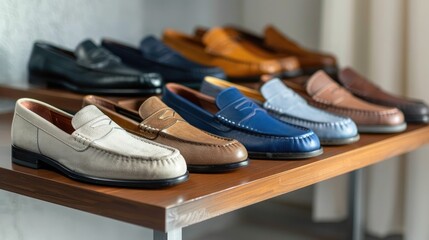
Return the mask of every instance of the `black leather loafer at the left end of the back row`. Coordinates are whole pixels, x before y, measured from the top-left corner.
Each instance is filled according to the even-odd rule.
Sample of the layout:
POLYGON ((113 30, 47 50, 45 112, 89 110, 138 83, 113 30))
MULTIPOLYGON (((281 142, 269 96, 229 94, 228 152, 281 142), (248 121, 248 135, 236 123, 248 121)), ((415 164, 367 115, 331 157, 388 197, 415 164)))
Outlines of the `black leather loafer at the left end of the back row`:
POLYGON ((65 88, 82 94, 159 94, 162 77, 122 64, 120 58, 90 40, 74 52, 36 42, 28 63, 30 84, 65 88))

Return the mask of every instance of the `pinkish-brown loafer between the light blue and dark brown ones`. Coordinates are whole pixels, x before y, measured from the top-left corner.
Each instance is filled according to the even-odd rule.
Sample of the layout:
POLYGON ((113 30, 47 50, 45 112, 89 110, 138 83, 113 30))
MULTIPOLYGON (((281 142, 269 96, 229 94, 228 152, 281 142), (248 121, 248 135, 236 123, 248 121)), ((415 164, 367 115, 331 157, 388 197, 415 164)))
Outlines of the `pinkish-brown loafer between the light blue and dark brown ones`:
POLYGON ((350 117, 361 133, 402 132, 407 127, 399 109, 372 104, 353 96, 322 70, 310 78, 289 79, 284 83, 311 105, 350 117))

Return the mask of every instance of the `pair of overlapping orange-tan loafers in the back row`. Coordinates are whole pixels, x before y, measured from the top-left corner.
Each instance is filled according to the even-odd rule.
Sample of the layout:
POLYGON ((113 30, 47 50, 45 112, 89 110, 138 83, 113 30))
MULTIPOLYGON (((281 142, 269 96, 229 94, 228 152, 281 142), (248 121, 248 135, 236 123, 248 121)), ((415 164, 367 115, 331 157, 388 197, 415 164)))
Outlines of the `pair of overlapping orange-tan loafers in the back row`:
POLYGON ((166 29, 162 40, 194 62, 221 68, 228 79, 234 81, 259 81, 263 75, 282 74, 292 77, 301 73, 295 58, 279 60, 260 57, 243 48, 239 39, 221 28, 214 28, 203 36, 166 29))

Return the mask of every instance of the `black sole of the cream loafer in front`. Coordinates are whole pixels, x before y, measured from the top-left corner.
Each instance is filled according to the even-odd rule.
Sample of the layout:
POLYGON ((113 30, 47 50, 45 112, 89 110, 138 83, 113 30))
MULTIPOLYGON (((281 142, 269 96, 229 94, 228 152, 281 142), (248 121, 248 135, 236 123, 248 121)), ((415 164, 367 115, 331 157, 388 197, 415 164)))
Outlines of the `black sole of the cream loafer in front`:
POLYGON ((63 175, 77 181, 97 184, 97 185, 114 186, 114 187, 151 188, 151 189, 164 188, 164 187, 170 187, 170 186, 185 182, 189 178, 188 173, 176 178, 159 179, 159 180, 122 180, 122 179, 107 179, 107 178, 93 177, 93 176, 88 176, 85 174, 74 172, 49 157, 43 156, 38 153, 30 152, 15 146, 12 146, 12 162, 15 164, 33 168, 33 169, 51 167, 61 172, 63 175))

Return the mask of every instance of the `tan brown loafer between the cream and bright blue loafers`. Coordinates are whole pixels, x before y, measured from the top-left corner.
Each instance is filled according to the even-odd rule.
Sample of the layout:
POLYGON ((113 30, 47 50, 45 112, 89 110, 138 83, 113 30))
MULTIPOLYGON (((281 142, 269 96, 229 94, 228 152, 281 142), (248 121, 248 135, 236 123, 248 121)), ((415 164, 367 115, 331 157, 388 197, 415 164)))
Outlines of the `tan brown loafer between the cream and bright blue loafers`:
POLYGON ((115 103, 105 98, 86 96, 93 104, 125 130, 179 149, 192 172, 224 172, 248 165, 246 148, 234 139, 215 136, 187 123, 159 98, 115 103))

